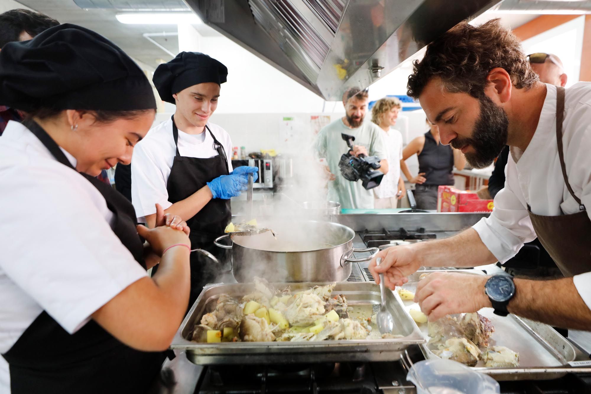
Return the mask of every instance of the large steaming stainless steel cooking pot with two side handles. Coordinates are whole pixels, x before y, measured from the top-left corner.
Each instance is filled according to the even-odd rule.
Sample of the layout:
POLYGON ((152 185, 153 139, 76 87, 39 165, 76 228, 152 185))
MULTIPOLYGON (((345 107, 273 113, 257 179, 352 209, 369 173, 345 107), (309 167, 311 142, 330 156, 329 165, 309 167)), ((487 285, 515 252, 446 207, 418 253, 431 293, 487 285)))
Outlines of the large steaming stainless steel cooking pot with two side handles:
POLYGON ((225 234, 218 247, 232 249, 232 273, 238 282, 254 276, 269 282, 343 282, 351 274, 351 263, 371 260, 378 248, 353 248, 355 232, 332 222, 265 222, 271 231, 261 234, 225 234), (230 238, 232 246, 221 244, 230 238), (353 259, 354 252, 372 252, 353 259))

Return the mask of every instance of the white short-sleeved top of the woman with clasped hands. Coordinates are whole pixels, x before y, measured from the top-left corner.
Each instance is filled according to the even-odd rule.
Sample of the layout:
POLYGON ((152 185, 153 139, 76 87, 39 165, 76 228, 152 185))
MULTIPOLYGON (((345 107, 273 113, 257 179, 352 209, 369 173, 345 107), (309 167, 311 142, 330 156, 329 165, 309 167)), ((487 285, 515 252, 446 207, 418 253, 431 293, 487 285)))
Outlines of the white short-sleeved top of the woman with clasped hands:
MULTIPOLYGON (((0 353, 41 312, 72 334, 147 276, 111 230, 113 214, 95 186, 18 122, 0 137, 0 183, 0 353)), ((9 392, 0 357, 0 393, 9 392)))

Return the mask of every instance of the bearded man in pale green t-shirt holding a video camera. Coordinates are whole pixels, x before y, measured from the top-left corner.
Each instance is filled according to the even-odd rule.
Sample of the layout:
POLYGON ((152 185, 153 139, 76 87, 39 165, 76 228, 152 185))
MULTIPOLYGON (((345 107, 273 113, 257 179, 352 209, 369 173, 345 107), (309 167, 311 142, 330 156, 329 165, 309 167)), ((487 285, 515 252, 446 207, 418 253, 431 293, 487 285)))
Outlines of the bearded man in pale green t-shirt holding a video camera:
POLYGON ((375 198, 371 188, 381 180, 381 177, 375 177, 375 170, 384 174, 388 172, 383 133, 373 122, 363 122, 368 101, 368 89, 347 89, 343 94, 345 117, 323 127, 316 141, 318 156, 326 159, 324 169, 329 179, 329 200, 340 202, 344 209, 374 209, 375 198), (343 134, 355 138, 352 148, 349 148, 343 134), (342 156, 348 154, 352 157, 345 160, 342 156), (378 160, 379 168, 375 169, 376 165, 371 163, 378 160), (343 172, 349 179, 359 177, 359 180, 348 180, 343 172), (368 181, 369 178, 372 180, 368 181))

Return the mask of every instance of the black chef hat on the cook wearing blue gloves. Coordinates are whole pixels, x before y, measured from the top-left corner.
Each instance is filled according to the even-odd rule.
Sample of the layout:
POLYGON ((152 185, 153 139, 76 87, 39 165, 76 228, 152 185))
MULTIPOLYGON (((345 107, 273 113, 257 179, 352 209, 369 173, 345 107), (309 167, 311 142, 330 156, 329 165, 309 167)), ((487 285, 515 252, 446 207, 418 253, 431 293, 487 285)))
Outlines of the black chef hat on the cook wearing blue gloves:
POLYGON ((160 64, 152 82, 160 98, 174 104, 173 94, 198 83, 226 82, 228 68, 216 59, 199 52, 181 52, 168 63, 160 64))

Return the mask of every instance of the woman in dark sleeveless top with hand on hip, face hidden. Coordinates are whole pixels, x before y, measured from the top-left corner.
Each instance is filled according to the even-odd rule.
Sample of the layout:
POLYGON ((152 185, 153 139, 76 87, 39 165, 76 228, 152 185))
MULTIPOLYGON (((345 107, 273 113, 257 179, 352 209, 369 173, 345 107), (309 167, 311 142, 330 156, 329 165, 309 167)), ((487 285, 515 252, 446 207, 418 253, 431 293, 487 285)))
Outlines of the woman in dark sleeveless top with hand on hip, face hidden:
MULTIPOLYGON (((429 122, 427 121, 427 124, 429 122)), ((439 142, 439 129, 430 125, 424 135, 414 138, 402 151, 400 169, 408 182, 415 183, 414 198, 418 209, 437 209, 437 188, 453 185, 453 167, 462 170, 466 159, 462 152, 439 142), (417 154, 418 175, 413 176, 405 162, 417 154)))

